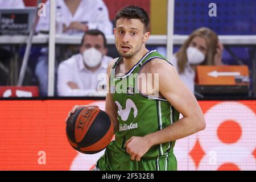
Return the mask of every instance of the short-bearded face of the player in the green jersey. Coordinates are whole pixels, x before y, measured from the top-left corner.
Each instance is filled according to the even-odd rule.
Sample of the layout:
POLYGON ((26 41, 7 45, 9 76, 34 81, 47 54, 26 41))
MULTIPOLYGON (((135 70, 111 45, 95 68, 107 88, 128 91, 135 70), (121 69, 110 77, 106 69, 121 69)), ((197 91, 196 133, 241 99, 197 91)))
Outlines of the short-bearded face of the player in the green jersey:
POLYGON ((149 32, 144 31, 144 24, 139 19, 120 18, 115 26, 115 47, 126 59, 136 55, 150 36, 149 32))

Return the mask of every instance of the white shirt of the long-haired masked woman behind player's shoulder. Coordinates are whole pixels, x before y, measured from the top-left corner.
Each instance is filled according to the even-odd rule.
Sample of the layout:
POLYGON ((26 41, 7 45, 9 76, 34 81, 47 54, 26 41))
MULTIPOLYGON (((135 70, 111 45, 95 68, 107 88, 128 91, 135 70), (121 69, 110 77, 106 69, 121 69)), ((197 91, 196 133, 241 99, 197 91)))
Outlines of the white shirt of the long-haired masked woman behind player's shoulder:
MULTIPOLYGON (((172 55, 171 63, 176 68, 177 72, 179 69, 177 68, 177 57, 172 55)), ((179 73, 180 79, 184 82, 185 85, 194 93, 195 90, 195 71, 191 68, 189 63, 185 65, 185 69, 183 73, 179 73)))

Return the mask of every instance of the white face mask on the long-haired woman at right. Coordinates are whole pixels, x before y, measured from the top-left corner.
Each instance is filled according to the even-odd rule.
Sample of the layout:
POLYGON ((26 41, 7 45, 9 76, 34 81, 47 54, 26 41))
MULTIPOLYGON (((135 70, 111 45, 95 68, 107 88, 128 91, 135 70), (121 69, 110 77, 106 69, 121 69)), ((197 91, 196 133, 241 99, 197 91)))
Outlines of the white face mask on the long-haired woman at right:
POLYGON ((205 59, 205 55, 203 54, 203 52, 199 51, 199 49, 195 47, 187 48, 187 57, 189 64, 200 64, 203 63, 205 59))

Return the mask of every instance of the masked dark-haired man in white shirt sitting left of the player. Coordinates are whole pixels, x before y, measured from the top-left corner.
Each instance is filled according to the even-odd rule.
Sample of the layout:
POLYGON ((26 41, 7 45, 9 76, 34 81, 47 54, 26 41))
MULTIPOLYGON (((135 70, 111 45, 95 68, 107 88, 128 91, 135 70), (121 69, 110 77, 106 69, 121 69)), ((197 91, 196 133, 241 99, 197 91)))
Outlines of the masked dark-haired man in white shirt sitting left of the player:
MULTIPOLYGON (((57 93, 59 96, 90 96, 106 83, 101 73, 112 57, 106 56, 106 38, 99 30, 88 30, 82 38, 80 53, 59 64, 57 93), (102 84, 102 85, 101 85, 102 84)), ((102 88, 103 89, 103 88, 102 88)))

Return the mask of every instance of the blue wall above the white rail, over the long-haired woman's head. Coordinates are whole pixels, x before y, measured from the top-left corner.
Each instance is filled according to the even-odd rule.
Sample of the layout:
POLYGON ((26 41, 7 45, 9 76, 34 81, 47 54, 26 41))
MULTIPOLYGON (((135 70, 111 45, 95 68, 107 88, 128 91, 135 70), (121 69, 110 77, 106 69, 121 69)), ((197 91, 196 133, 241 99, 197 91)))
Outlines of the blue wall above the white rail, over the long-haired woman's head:
POLYGON ((255 0, 176 0, 174 34, 188 35, 209 27, 218 35, 255 35, 255 0), (210 17, 209 3, 216 3, 217 16, 210 17))

